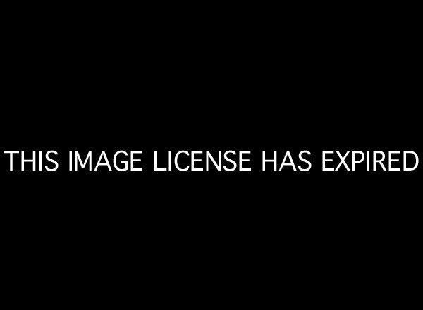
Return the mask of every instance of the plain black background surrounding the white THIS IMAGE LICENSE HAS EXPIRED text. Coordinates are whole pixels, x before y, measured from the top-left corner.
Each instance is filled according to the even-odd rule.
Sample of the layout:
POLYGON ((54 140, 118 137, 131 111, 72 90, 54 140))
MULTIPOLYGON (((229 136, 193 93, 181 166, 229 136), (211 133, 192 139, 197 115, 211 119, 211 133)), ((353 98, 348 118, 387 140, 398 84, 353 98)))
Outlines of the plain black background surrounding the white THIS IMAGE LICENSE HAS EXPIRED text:
POLYGON ((322 173, 319 154, 421 156, 417 20, 175 9, 20 8, 2 39, 1 150, 251 149, 255 171, 3 170, 8 291, 118 304, 413 294, 421 168, 322 173), (310 173, 259 172, 260 151, 302 149, 310 173))

